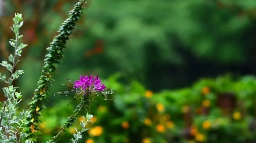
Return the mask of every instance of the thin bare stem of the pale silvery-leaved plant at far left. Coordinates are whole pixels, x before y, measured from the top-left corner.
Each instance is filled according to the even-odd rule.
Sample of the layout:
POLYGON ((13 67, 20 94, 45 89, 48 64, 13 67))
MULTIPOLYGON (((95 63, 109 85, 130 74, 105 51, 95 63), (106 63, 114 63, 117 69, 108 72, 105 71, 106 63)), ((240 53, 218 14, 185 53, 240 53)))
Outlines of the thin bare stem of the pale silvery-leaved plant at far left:
MULTIPOLYGON (((13 81, 13 70, 14 70, 14 66, 15 66, 15 57, 16 57, 16 54, 17 54, 17 44, 18 44, 18 36, 19 36, 19 31, 18 33, 15 33, 15 36, 16 36, 16 40, 15 40, 15 52, 14 52, 14 57, 13 57, 13 66, 12 66, 12 72, 11 72, 11 75, 10 75, 10 81, 8 83, 8 86, 12 85, 12 81, 13 81)), ((3 119, 3 114, 5 112, 5 108, 6 108, 6 102, 8 100, 8 97, 5 96, 5 103, 3 103, 3 112, 2 112, 2 115, 1 115, 1 119, 0 119, 0 127, 2 127, 1 123, 2 123, 2 119, 3 119)))

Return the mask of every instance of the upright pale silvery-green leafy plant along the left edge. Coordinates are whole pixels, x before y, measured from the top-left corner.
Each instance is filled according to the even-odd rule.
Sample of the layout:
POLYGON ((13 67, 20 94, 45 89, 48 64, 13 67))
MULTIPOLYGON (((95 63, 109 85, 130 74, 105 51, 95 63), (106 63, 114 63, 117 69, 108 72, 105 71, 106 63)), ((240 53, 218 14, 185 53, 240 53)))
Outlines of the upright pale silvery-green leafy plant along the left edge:
MULTIPOLYGON (((25 123, 25 118, 29 115, 28 111, 21 111, 18 115, 16 115, 17 104, 21 101, 21 93, 16 92, 18 87, 12 85, 14 80, 17 80, 21 74, 23 74, 23 70, 14 70, 14 67, 17 65, 19 60, 17 60, 17 56, 21 56, 21 52, 27 44, 21 43, 18 45, 18 41, 23 37, 20 35, 19 28, 23 25, 23 18, 21 14, 15 14, 13 18, 14 24, 11 27, 12 31, 15 33, 15 39, 10 40, 10 45, 14 47, 14 55, 9 55, 9 62, 2 61, 0 65, 6 67, 6 70, 9 70, 10 77, 6 80, 6 76, 1 76, 0 80, 8 84, 8 87, 3 88, 3 93, 5 93, 5 101, 3 104, 1 103, 1 111, 0 111, 0 141, 1 142, 17 142, 19 137, 20 129, 23 129, 23 125, 25 123)), ((23 139, 25 137, 24 133, 20 134, 20 138, 23 139)))

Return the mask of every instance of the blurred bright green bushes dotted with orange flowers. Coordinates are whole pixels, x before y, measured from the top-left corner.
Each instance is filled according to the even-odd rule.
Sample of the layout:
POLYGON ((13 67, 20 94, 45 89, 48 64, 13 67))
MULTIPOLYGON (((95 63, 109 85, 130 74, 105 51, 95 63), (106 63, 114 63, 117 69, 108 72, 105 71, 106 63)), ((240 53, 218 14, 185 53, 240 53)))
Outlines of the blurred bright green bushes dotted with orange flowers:
MULTIPOLYGON (((234 80, 231 76, 203 78, 193 86, 153 93, 139 82, 119 84, 120 74, 105 84, 118 91, 109 97, 116 102, 99 101, 81 142, 255 142, 255 77, 234 80)), ((41 126, 44 141, 73 110, 60 101, 48 112, 41 126)), ((85 111, 86 114, 86 111, 85 111)), ((85 115, 84 114, 84 115, 85 115)), ((82 115, 76 122, 82 120, 82 115)), ((68 140, 72 127, 57 142, 68 140)))

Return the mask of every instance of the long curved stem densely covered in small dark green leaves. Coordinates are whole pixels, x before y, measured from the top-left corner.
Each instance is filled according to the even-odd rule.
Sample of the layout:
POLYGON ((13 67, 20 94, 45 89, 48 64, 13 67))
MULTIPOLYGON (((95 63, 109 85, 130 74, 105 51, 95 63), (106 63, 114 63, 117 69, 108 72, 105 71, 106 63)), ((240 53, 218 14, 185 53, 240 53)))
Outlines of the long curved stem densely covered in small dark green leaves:
POLYGON ((54 37, 53 42, 50 43, 50 47, 47 48, 49 54, 45 58, 45 66, 41 72, 41 77, 38 81, 38 88, 34 92, 34 97, 32 98, 30 104, 30 116, 26 119, 25 122, 25 137, 28 141, 36 141, 35 133, 39 132, 39 127, 35 123, 42 123, 39 117, 41 116, 41 111, 45 108, 43 99, 46 99, 47 91, 49 91, 50 83, 53 81, 53 76, 56 71, 58 63, 61 63, 64 55, 63 48, 67 44, 67 40, 70 39, 69 36, 72 34, 72 30, 77 28, 76 22, 81 18, 83 12, 82 4, 85 0, 79 0, 75 4, 74 9, 70 11, 70 18, 67 18, 61 25, 58 32, 59 35, 54 37))

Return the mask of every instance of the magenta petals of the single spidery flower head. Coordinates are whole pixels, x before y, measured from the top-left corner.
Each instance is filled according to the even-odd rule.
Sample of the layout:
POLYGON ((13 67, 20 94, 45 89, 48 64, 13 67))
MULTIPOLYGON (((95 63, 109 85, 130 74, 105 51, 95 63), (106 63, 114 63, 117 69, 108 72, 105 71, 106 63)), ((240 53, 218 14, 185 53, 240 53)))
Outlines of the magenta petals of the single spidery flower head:
POLYGON ((82 88, 89 92, 102 92, 106 86, 101 84, 101 80, 98 76, 80 76, 80 80, 74 82, 74 88, 82 88))

